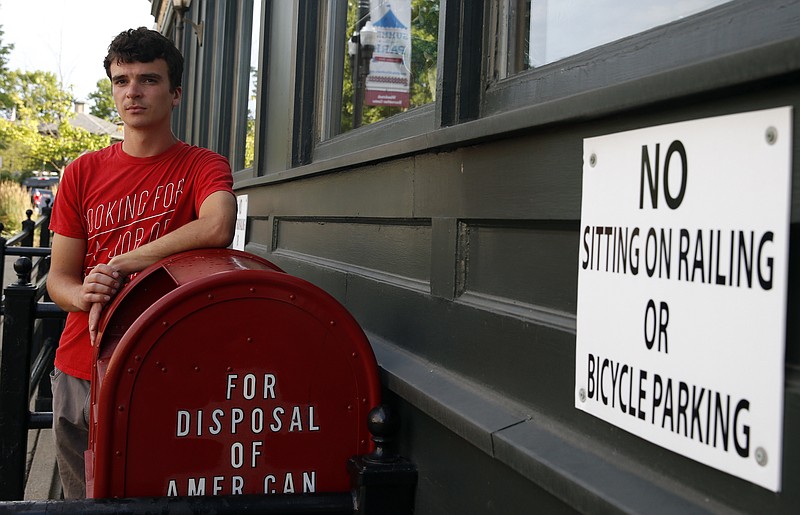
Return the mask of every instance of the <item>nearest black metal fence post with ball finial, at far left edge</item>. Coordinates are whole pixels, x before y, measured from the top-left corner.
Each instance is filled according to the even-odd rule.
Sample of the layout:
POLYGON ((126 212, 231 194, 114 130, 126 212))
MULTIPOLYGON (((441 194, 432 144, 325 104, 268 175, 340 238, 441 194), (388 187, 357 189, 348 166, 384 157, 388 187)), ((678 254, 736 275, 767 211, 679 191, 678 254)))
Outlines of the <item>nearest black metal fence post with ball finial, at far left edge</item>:
POLYGON ((5 289, 3 352, 0 357, 0 500, 25 496, 25 458, 28 446, 30 343, 36 310, 36 288, 30 277, 31 260, 20 258, 14 269, 20 280, 5 289))

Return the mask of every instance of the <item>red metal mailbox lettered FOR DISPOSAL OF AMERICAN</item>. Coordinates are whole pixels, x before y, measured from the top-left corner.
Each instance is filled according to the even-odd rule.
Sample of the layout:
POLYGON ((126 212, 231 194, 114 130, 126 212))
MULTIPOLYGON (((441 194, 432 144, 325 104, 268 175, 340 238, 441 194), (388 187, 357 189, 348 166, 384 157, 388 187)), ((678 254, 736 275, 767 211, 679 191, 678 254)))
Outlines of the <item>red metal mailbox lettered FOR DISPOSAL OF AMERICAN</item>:
POLYGON ((262 258, 177 254, 100 323, 89 497, 336 492, 372 449, 380 403, 363 331, 333 297, 262 258))

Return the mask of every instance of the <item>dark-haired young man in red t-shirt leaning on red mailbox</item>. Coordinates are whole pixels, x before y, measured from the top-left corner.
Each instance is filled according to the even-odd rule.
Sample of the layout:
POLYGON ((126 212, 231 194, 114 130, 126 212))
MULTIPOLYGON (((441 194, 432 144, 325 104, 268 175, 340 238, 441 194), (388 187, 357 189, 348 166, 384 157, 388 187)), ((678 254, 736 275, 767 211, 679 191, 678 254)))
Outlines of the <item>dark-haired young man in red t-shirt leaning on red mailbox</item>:
POLYGON ((125 279, 184 250, 225 247, 236 200, 227 160, 175 138, 183 57, 145 28, 119 34, 105 59, 125 139, 64 172, 50 228, 47 289, 68 311, 56 351, 53 430, 66 498, 85 496, 92 345, 103 306, 125 279))

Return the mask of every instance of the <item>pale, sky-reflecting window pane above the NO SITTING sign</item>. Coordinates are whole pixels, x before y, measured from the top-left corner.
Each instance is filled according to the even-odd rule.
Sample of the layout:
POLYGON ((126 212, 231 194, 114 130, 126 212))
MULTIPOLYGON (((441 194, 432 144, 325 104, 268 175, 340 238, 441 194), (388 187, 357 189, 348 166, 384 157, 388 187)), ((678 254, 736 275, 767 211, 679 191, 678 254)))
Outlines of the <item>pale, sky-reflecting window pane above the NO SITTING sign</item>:
POLYGON ((498 74, 549 64, 730 0, 507 0, 498 74), (506 68, 507 67, 507 68, 506 68))

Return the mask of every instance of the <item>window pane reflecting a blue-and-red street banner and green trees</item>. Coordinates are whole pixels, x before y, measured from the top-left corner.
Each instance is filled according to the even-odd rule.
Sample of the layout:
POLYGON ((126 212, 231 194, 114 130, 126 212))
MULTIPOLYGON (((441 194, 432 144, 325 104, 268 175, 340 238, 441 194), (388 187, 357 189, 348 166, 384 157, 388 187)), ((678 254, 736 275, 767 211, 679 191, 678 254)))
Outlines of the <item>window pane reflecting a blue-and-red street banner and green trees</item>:
POLYGON ((438 0, 349 0, 346 132, 435 100, 438 0))

